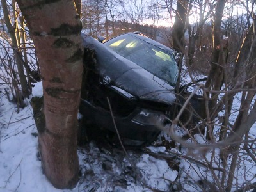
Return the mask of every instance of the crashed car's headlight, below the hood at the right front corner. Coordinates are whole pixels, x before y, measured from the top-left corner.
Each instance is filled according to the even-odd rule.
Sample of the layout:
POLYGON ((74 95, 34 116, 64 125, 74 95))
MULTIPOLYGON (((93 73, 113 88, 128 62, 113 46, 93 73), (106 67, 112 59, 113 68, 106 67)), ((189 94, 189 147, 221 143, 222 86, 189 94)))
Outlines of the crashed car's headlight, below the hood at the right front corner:
POLYGON ((140 113, 138 113, 132 119, 133 122, 150 125, 162 124, 164 120, 165 115, 163 113, 157 111, 149 111, 147 109, 142 109, 140 113))

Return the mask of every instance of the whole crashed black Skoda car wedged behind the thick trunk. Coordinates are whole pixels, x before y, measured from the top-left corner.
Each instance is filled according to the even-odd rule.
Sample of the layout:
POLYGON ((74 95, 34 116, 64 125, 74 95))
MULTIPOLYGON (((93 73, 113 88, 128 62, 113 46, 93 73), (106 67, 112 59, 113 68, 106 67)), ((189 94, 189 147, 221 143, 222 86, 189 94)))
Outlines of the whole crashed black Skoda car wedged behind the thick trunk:
POLYGON ((178 67, 173 49, 139 33, 102 43, 82 35, 80 113, 122 138, 152 142, 173 113, 178 67))

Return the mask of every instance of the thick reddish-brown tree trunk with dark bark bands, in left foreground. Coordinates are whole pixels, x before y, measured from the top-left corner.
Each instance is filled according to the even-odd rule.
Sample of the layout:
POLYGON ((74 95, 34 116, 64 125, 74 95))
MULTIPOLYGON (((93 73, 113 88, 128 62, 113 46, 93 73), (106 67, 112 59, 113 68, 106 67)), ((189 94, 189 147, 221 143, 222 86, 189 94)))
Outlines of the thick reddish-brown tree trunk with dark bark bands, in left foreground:
POLYGON ((43 79, 45 126, 38 129, 43 170, 56 188, 73 188, 83 72, 79 15, 70 0, 17 3, 33 35, 43 79))

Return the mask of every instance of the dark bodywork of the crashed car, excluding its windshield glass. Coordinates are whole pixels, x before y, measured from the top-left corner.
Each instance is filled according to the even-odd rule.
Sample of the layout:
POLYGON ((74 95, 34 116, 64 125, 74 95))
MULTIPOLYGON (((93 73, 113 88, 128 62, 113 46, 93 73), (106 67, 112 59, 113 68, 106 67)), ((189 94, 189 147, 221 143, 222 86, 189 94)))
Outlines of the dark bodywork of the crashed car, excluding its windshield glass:
MULTIPOLYGON (((95 38, 83 34, 82 38, 84 77, 80 113, 99 127, 113 132, 117 129, 124 138, 153 141, 161 131, 157 127, 159 122, 165 123, 165 116, 176 100, 174 87, 95 38)), ((176 65, 172 49, 144 36, 142 40, 148 46, 158 46, 156 50, 168 51, 176 65)), ((155 64, 157 67, 158 63, 155 64)))

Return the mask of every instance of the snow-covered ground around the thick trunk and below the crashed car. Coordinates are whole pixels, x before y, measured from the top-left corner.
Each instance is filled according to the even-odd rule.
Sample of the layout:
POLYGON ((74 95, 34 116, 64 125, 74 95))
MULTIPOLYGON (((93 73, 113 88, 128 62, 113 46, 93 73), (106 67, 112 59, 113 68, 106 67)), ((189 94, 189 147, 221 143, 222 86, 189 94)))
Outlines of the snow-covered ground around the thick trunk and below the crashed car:
MULTIPOLYGON (((1 83, 1 82, 0 82, 1 83)), ((108 141, 90 141, 79 147, 80 180, 74 189, 54 188, 42 173, 38 160, 37 130, 33 120, 33 109, 20 108, 8 101, 0 84, 0 192, 2 191, 204 191, 211 189, 214 182, 212 173, 203 163, 204 158, 212 166, 221 168, 218 162, 218 148, 209 150, 203 157, 200 152, 184 147, 166 148, 163 145, 127 150, 128 156, 120 148, 113 147, 108 141), (193 157, 182 158, 182 156, 193 157), (215 162, 216 161, 216 162, 215 162), (201 163, 201 164, 200 164, 201 163), (179 182, 175 182, 178 181, 179 182), (206 181, 207 180, 207 181, 206 181), (178 183, 182 185, 179 186, 178 183), (176 185, 175 185, 176 184, 176 185)), ((36 83, 32 96, 42 95, 42 83, 36 83)), ((234 114, 235 115, 235 114, 234 114)), ((251 138, 255 138, 255 126, 251 138)), ((179 129, 176 130, 180 132, 179 129)), ((170 140, 166 134, 162 134, 170 140)), ((160 138, 160 136, 159 136, 160 138)), ((205 143, 204 137, 196 135, 198 143, 205 143)), ((192 141, 188 141, 192 142, 192 141)), ((239 170, 236 172, 237 186, 245 180, 253 179, 256 168, 253 161, 241 154, 239 170)), ((234 189, 236 189, 234 187, 234 189)))

